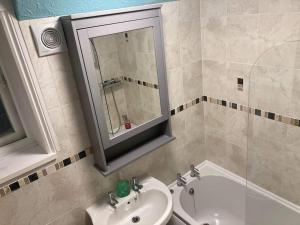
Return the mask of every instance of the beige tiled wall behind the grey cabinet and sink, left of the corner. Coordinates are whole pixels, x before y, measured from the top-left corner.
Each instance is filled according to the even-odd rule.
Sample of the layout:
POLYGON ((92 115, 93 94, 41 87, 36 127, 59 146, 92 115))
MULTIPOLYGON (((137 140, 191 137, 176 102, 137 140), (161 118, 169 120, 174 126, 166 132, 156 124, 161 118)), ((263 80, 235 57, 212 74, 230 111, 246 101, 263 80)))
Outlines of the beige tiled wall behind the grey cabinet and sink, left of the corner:
MULTIPOLYGON (((53 167, 47 176, 33 175, 31 178, 39 179, 4 197, 0 192, 1 225, 87 224, 85 209, 113 190, 118 179, 148 174, 170 183, 177 172, 187 171, 191 163, 206 159, 202 104, 182 106, 186 109, 172 116, 175 141, 108 177, 94 168, 92 155, 76 157, 90 146, 90 141, 68 55, 38 58, 29 30, 31 24, 56 19, 21 21, 20 26, 60 144, 57 162, 64 160, 58 163, 63 168, 53 167)), ((199 2, 167 3, 163 19, 170 101, 175 108, 202 95, 199 2)))

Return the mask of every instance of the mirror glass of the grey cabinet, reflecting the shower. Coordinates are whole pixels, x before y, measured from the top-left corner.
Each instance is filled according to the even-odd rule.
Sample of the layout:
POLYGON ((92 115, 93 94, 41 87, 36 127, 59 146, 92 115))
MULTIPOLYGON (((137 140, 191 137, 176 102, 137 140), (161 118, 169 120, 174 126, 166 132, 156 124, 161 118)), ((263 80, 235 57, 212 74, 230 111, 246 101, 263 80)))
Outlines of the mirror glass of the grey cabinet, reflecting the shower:
POLYGON ((91 39, 109 137, 162 115, 153 28, 91 39))

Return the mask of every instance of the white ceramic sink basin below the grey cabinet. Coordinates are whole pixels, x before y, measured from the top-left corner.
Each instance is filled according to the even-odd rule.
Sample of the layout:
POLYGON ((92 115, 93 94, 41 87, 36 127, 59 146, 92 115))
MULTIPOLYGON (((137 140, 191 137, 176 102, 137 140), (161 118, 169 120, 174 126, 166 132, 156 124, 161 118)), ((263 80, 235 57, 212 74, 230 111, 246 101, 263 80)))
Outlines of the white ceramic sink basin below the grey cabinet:
POLYGON ((93 225, 165 225, 172 216, 173 202, 168 187, 148 177, 140 181, 140 193, 118 198, 114 207, 99 201, 87 209, 93 225))

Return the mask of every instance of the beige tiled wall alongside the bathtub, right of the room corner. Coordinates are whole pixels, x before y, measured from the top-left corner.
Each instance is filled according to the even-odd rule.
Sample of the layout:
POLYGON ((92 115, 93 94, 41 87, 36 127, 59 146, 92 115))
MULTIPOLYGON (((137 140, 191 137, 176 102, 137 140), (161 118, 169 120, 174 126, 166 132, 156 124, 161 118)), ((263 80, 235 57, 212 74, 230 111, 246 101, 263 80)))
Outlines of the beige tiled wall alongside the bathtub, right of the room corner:
POLYGON ((204 103, 208 159, 299 205, 300 1, 202 0, 201 16, 204 95, 253 108, 248 127, 204 103))

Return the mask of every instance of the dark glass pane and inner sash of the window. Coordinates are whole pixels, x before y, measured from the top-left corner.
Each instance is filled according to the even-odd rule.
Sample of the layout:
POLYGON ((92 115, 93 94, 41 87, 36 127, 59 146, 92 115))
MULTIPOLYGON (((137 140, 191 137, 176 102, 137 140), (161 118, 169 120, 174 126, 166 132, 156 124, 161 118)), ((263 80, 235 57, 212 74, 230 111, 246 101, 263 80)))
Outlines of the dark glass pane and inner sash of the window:
POLYGON ((0 147, 25 137, 25 131, 0 67, 0 147))

